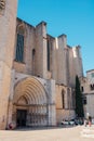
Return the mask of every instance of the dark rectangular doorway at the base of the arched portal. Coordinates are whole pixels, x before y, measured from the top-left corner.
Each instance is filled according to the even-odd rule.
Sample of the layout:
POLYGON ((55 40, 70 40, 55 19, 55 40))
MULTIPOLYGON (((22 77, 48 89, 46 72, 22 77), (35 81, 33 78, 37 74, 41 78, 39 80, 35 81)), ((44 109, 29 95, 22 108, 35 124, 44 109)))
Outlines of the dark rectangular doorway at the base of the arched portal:
POLYGON ((17 110, 16 111, 16 125, 17 125, 17 127, 25 127, 26 126, 26 118, 27 118, 27 111, 26 110, 17 110))

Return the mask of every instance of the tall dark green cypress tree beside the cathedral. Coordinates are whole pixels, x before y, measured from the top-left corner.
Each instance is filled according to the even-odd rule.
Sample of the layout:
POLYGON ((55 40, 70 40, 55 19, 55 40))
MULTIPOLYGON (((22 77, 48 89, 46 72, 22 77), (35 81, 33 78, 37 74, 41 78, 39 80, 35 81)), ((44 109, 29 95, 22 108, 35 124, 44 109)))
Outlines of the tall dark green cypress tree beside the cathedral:
POLYGON ((78 76, 76 76, 76 115, 78 117, 84 117, 82 93, 78 76))

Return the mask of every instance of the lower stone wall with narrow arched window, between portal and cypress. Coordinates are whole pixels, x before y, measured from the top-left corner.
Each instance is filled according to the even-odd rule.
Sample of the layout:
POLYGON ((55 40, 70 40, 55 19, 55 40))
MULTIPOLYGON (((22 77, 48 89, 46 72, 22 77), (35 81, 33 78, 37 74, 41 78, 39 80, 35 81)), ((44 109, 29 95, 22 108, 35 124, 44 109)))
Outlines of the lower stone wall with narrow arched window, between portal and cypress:
POLYGON ((72 107, 72 93, 68 92, 68 88, 65 86, 56 85, 56 121, 59 124, 63 119, 72 119, 75 118, 75 110, 72 107), (64 107, 63 107, 63 98, 62 91, 64 91, 64 107))

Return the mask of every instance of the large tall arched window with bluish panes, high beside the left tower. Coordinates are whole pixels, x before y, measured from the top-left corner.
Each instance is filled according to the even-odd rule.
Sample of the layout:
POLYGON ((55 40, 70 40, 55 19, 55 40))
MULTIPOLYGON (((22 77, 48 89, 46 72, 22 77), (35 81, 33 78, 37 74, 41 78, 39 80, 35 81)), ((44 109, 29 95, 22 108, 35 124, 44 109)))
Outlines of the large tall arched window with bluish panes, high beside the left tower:
POLYGON ((15 61, 24 62, 24 28, 23 26, 19 26, 17 28, 15 61))

